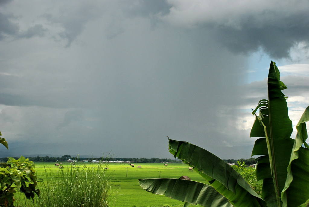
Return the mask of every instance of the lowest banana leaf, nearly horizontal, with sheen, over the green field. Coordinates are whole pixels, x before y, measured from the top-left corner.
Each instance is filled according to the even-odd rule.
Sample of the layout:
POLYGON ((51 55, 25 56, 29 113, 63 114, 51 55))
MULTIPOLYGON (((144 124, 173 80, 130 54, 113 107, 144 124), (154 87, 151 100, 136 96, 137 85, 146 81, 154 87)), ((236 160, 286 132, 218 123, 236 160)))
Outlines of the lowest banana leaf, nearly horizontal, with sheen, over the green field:
POLYGON ((147 192, 165 195, 178 201, 207 207, 232 207, 233 205, 213 187, 204 183, 172 178, 139 179, 147 192))

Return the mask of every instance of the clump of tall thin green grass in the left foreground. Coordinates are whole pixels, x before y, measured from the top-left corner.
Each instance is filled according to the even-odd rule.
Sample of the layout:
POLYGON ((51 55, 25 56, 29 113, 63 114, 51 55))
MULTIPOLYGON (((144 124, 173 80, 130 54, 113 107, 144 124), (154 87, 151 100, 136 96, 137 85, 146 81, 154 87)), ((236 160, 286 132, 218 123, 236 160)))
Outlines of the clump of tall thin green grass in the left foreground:
POLYGON ((47 182, 42 182, 40 198, 34 203, 40 207, 105 207, 111 194, 106 164, 97 166, 71 165, 54 173, 45 168, 47 182))

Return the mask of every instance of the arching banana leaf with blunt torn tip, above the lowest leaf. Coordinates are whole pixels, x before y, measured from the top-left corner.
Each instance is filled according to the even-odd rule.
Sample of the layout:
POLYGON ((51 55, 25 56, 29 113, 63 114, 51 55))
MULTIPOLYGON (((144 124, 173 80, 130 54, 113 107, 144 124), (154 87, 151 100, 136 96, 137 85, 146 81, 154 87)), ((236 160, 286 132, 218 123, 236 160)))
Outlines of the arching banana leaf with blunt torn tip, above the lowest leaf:
POLYGON ((266 206, 265 201, 226 162, 196 145, 169 139, 169 152, 193 167, 234 206, 266 206))

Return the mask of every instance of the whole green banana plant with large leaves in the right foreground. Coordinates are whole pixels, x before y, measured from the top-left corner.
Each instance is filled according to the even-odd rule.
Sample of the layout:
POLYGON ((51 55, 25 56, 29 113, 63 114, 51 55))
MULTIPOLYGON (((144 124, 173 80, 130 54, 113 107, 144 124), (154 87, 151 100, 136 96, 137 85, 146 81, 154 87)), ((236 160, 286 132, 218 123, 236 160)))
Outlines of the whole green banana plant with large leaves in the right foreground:
POLYGON ((261 196, 219 157, 196 145, 171 139, 168 141, 169 152, 192 167, 205 182, 139 179, 140 186, 147 192, 184 201, 184 206, 309 206, 309 146, 305 123, 309 120, 309 106, 296 126, 296 138, 290 138, 292 122, 288 116, 287 96, 282 93, 286 88, 280 81, 276 63, 271 62, 268 100, 261 100, 252 110, 256 119, 250 133, 250 137, 258 137, 252 156, 259 156, 256 175, 263 183, 261 196))

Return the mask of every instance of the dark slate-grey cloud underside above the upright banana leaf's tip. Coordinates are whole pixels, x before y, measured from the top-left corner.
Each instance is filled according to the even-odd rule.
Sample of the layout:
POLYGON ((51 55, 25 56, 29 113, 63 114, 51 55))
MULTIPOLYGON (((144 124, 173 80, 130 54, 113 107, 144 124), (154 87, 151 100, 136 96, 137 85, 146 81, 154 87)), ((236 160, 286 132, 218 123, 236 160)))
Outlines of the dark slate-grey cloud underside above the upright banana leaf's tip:
MULTIPOLYGON (((309 6, 309 5, 308 5, 309 6)), ((278 15, 278 14, 274 14, 278 15)), ((287 58, 290 48, 298 42, 309 43, 309 13, 280 15, 256 24, 248 15, 240 23, 241 29, 222 26, 214 29, 215 37, 236 53, 254 52, 262 48, 273 58, 287 58)))

